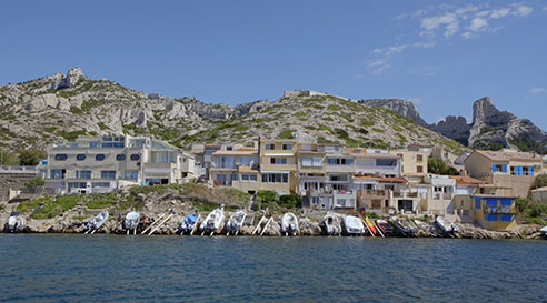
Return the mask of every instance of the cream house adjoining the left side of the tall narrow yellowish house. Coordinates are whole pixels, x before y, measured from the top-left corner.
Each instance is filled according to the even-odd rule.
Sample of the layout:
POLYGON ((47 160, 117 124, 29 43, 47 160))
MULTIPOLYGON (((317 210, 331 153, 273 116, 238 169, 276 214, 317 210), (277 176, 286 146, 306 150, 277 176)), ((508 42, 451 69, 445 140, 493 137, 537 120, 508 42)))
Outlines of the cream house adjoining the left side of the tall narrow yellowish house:
POLYGON ((218 186, 231 186, 255 194, 260 189, 258 150, 239 148, 211 154, 209 179, 218 186))

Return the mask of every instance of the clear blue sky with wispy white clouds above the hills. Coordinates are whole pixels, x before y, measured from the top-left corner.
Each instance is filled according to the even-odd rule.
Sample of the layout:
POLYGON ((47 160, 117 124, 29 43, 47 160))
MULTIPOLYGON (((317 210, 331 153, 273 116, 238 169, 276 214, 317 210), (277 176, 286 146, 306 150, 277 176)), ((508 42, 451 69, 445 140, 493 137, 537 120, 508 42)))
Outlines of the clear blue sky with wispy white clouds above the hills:
POLYGON ((0 83, 81 67, 206 102, 406 98, 428 122, 489 95, 547 129, 546 36, 545 1, 10 1, 0 83))

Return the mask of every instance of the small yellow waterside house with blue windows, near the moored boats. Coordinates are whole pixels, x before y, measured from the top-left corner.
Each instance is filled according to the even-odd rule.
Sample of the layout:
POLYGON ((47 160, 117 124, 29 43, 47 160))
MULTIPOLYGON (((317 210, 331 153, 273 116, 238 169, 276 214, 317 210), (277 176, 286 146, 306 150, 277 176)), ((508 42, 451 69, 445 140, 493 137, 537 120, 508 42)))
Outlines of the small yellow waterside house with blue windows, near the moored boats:
POLYGON ((485 229, 511 231, 517 228, 515 196, 471 194, 475 221, 485 229))

